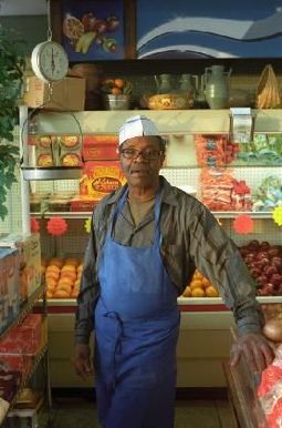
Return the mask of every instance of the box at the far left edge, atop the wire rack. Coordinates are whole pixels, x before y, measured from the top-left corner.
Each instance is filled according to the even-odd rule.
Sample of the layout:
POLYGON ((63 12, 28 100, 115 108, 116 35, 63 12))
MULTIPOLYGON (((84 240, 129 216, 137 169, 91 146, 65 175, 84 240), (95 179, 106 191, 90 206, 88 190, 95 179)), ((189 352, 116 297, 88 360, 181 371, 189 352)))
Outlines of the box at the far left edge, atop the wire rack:
POLYGON ((20 254, 17 248, 0 248, 0 333, 20 310, 20 254))

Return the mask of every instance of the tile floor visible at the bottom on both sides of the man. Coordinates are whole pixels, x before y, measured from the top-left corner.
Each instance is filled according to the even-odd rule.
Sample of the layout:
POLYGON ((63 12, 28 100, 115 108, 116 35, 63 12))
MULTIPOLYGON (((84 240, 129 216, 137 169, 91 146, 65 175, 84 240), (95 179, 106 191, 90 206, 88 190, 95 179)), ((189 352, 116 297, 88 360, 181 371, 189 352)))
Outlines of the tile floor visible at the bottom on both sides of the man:
MULTIPOLYGON (((100 428, 95 404, 88 399, 55 399, 53 428, 100 428)), ((175 428, 232 428, 227 400, 177 400, 175 428)))

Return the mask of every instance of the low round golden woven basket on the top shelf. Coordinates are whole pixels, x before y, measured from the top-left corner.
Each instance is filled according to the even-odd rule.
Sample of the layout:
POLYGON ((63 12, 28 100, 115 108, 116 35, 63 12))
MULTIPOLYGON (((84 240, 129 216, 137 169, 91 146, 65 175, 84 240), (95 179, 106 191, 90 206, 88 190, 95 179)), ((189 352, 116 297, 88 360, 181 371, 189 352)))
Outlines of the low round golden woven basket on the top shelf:
POLYGON ((152 110, 184 110, 191 109, 194 98, 190 93, 161 93, 146 96, 148 109, 152 110))

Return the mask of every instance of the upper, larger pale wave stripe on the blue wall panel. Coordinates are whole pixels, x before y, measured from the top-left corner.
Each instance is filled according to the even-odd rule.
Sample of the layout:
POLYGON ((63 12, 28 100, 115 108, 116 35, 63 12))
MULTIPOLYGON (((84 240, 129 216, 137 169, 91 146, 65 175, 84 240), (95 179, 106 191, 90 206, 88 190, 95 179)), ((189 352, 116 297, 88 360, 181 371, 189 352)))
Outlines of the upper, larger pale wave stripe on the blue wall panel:
POLYGON ((257 40, 282 32, 282 11, 258 21, 241 21, 220 18, 175 18, 147 32, 137 43, 137 50, 152 40, 168 33, 197 31, 218 34, 237 40, 257 40))

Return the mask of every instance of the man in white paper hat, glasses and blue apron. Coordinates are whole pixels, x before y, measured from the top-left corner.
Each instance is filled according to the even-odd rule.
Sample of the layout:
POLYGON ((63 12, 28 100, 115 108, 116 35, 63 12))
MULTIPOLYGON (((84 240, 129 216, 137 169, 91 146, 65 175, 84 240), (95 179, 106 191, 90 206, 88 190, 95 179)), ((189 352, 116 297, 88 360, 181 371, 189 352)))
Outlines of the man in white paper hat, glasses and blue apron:
POLYGON ((177 297, 197 268, 232 308, 240 338, 231 364, 246 354, 261 371, 273 354, 261 335, 263 319, 240 254, 211 213, 173 187, 159 171, 165 144, 146 116, 119 131, 127 185, 93 214, 79 296, 74 366, 92 374, 104 428, 173 428, 177 297))

